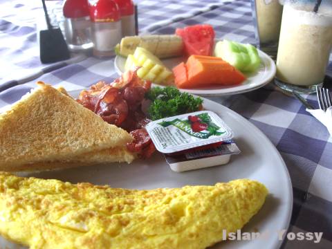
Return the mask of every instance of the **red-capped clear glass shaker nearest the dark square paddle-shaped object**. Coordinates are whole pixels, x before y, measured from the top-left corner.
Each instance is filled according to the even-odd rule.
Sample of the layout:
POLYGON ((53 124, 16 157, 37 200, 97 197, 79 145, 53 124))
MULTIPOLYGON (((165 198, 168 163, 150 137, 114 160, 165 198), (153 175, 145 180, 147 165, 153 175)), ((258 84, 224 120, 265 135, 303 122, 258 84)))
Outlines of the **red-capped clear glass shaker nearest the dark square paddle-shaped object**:
POLYGON ((68 48, 72 51, 92 48, 89 2, 87 0, 66 0, 62 10, 68 48))

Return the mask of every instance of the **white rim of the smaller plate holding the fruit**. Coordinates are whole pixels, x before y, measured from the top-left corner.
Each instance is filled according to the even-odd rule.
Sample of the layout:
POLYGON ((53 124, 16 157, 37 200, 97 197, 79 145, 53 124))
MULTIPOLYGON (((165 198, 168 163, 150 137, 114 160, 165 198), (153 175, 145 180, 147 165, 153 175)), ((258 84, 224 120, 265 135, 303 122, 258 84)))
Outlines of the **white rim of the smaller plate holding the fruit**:
MULTIPOLYGON (((262 86, 265 86, 266 84, 270 83, 273 78, 275 77, 275 73, 277 72, 277 67, 275 66, 275 62, 273 61, 273 59, 271 59, 270 56, 268 56, 266 53, 264 53, 262 50, 258 50, 259 53, 259 57, 261 57, 262 61, 264 61, 264 59, 266 59, 268 61, 268 64, 270 65, 269 68, 270 70, 268 70, 266 73, 266 77, 264 78, 264 80, 261 80, 261 82, 256 83, 254 86, 250 86, 250 85, 239 85, 239 86, 231 86, 228 88, 221 88, 221 89, 179 89, 181 91, 185 91, 187 93, 191 93, 194 95, 201 95, 201 96, 205 96, 205 97, 213 97, 213 96, 224 96, 224 95, 234 95, 234 94, 239 94, 239 93, 246 93, 248 91, 254 91, 256 89, 261 88, 262 86)), ((119 64, 121 63, 120 60, 124 59, 124 57, 120 56, 120 55, 116 55, 116 58, 114 59, 114 68, 116 69, 116 73, 118 73, 118 75, 122 75, 122 71, 119 68, 119 64)), ((163 61, 163 60, 162 60, 163 61)), ((266 64, 264 64, 266 65, 266 64)), ((158 84, 153 84, 154 86, 161 86, 158 84)))

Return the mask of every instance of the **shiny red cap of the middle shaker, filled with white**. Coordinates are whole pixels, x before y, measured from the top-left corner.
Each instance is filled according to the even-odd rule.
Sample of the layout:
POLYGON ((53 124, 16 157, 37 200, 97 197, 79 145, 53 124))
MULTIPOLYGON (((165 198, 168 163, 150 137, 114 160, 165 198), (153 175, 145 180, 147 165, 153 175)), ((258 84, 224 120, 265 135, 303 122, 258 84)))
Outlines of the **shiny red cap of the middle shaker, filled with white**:
POLYGON ((95 22, 119 21, 118 4, 113 0, 99 0, 90 6, 90 18, 95 22))

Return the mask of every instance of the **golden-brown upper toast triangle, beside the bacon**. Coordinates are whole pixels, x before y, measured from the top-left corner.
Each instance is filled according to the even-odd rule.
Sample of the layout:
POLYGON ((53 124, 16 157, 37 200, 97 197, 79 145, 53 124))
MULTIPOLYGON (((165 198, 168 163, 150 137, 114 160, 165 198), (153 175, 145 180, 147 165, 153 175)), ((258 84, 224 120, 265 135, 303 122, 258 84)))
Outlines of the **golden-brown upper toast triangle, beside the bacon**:
POLYGON ((52 86, 37 84, 0 114, 0 170, 68 160, 91 151, 123 147, 133 139, 124 129, 104 122, 52 86))

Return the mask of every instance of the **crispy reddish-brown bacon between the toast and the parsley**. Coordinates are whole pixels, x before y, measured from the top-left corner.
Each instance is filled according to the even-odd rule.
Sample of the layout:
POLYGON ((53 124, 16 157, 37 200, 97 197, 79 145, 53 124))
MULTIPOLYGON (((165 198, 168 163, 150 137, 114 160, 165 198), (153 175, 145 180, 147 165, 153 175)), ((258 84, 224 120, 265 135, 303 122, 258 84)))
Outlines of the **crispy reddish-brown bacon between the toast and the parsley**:
POLYGON ((77 102, 98 114, 104 121, 130 132, 134 140, 127 145, 127 149, 137 153, 140 158, 149 158, 156 148, 144 129, 151 120, 145 116, 141 107, 151 82, 140 79, 137 70, 127 71, 111 84, 94 84, 89 90, 80 93, 77 102))

